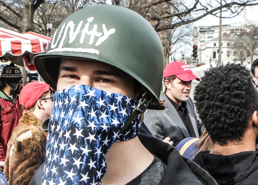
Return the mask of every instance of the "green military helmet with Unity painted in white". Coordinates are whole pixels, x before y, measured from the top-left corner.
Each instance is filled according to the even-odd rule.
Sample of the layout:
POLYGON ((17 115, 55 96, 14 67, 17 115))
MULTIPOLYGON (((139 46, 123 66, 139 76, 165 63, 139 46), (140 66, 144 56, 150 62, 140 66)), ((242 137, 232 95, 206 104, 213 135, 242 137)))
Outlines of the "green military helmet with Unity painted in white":
POLYGON ((38 73, 54 89, 61 57, 113 65, 159 100, 164 69, 162 43, 150 23, 130 9, 90 6, 72 13, 60 24, 47 52, 34 58, 38 73))

